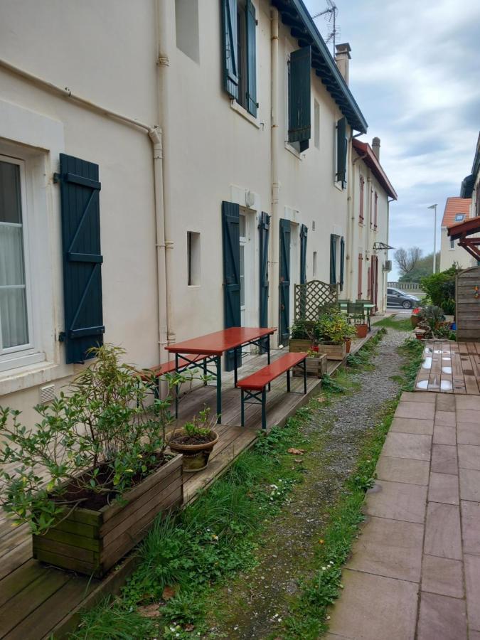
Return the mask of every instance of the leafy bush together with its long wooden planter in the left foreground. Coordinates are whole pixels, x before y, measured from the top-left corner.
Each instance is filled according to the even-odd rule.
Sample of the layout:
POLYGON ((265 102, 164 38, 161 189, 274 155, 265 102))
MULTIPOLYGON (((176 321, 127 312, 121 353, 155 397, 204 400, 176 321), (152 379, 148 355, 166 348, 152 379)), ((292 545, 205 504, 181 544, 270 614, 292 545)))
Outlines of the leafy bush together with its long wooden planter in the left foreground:
MULTIPOLYGON (((33 557, 100 577, 183 501, 181 456, 169 454, 169 398, 105 345, 40 422, 0 409, 0 503, 33 533, 33 557)), ((147 372, 142 372, 147 375, 147 372)), ((183 376, 171 376, 172 385, 183 376)))

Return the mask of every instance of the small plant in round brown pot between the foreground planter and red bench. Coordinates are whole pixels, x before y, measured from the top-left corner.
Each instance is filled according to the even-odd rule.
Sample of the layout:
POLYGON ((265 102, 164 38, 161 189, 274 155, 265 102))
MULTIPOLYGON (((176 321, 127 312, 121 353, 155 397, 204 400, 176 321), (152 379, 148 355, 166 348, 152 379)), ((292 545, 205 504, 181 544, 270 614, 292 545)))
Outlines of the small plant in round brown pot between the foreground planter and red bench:
POLYGON ((203 407, 191 422, 174 432, 170 449, 183 454, 183 471, 200 471, 208 465, 208 458, 218 442, 213 430, 217 417, 210 417, 210 407, 203 407))

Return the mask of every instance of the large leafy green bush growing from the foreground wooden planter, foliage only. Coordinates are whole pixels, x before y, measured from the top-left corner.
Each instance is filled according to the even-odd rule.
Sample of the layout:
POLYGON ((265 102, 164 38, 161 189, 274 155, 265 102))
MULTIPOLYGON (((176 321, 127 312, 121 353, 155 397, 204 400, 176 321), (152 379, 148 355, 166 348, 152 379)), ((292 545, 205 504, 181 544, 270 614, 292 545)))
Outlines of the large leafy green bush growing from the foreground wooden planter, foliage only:
MULTIPOLYGON (((68 394, 38 405, 41 422, 21 425, 0 408, 0 504, 16 523, 42 534, 78 506, 99 508, 169 462, 169 398, 151 398, 153 376, 121 364, 124 351, 105 345, 73 380, 68 394), (13 471, 7 469, 14 469, 13 471), (43 474, 41 469, 44 469, 43 474)), ((192 379, 169 376, 169 386, 192 379)))

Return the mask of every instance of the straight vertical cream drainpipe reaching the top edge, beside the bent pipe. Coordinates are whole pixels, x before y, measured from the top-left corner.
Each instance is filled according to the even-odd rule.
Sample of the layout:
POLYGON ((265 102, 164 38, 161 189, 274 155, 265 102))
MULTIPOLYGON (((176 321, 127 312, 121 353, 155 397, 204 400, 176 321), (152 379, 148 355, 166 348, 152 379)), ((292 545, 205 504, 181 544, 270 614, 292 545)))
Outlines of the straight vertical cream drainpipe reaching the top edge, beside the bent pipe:
MULTIPOLYGON (((172 0, 157 0, 156 1, 156 24, 157 24, 157 38, 158 38, 158 58, 156 64, 159 68, 157 73, 157 85, 158 85, 158 105, 159 105, 159 122, 163 132, 163 154, 168 159, 169 151, 171 149, 169 142, 169 129, 170 117, 169 117, 169 74, 170 70, 170 56, 169 51, 173 45, 171 43, 171 28, 175 24, 175 6, 172 0)), ((171 154, 170 154, 171 155, 171 154)), ((171 275, 175 272, 175 265, 173 263, 174 255, 173 248, 174 243, 169 240, 171 238, 171 200, 170 200, 170 164, 169 162, 163 164, 163 224, 164 224, 164 268, 165 268, 165 307, 166 307, 166 326, 167 336, 166 340, 168 344, 176 341, 176 334, 174 330, 174 314, 172 309, 172 282, 171 275)), ((163 349, 164 347, 161 346, 163 349)), ((168 358, 165 358, 168 359, 168 358)))

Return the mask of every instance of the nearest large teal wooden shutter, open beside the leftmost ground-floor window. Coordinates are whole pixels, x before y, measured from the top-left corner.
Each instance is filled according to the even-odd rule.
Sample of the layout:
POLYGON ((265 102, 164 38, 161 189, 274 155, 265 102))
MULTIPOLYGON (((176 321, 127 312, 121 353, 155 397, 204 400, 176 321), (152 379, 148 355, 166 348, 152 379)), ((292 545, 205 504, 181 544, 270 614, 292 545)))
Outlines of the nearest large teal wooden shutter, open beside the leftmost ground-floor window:
POLYGON ((63 307, 66 362, 92 358, 87 351, 103 343, 100 182, 98 165, 60 154, 60 205, 63 247, 63 307))

